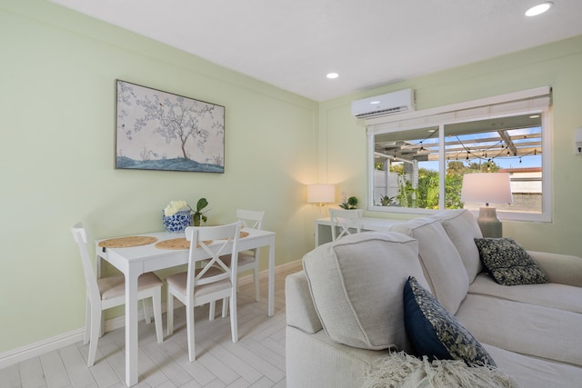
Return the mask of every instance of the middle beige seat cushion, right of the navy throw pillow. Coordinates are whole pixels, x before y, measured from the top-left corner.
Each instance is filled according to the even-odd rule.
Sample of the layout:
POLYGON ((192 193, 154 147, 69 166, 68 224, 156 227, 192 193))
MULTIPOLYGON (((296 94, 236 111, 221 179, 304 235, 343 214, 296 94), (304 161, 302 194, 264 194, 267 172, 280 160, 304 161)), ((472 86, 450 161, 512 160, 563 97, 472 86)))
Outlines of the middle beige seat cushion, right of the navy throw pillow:
POLYGON ((469 293, 456 317, 480 343, 582 366, 580 313, 469 293))

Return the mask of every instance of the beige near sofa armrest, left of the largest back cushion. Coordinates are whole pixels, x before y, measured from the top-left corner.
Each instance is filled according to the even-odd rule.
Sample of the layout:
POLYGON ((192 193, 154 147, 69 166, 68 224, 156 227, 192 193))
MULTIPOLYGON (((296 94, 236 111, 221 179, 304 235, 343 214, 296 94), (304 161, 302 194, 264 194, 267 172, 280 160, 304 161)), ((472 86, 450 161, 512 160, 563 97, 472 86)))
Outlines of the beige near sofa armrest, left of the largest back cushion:
POLYGON ((285 279, 287 325, 306 333, 317 333, 323 326, 309 291, 305 271, 289 274, 285 279))

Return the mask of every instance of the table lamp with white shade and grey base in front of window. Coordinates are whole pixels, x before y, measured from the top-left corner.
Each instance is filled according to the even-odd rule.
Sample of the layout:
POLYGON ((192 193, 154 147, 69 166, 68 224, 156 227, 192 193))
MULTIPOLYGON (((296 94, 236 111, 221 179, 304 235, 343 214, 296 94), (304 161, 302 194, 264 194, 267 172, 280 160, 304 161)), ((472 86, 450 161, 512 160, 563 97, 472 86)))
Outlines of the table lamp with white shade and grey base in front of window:
POLYGON ((470 204, 485 203, 479 207, 477 224, 483 237, 502 237, 503 225, 497 218, 495 207, 489 204, 511 204, 509 173, 476 173, 463 175, 461 201, 470 204))

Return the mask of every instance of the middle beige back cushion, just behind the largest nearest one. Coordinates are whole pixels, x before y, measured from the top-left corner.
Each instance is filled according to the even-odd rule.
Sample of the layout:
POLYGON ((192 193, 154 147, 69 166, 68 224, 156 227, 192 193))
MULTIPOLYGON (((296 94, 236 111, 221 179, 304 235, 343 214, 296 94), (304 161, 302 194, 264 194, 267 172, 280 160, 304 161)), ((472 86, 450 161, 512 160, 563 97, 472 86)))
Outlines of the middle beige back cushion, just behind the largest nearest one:
POLYGON ((465 265, 443 225, 436 218, 414 218, 406 224, 396 224, 392 230, 418 240, 418 257, 430 290, 449 313, 457 313, 469 281, 465 265))

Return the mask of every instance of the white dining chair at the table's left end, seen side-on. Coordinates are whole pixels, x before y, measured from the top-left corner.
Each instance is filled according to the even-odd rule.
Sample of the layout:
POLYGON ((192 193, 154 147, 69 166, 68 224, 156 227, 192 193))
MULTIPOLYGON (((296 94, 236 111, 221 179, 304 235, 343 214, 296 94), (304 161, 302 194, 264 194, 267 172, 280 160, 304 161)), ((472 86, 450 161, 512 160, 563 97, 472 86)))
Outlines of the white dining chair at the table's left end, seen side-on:
MULTIPOLYGON (((71 228, 71 233, 78 245, 83 263, 86 284, 86 309, 85 309, 85 335, 83 343, 89 343, 87 366, 95 363, 97 342, 101 336, 101 317, 104 310, 125 304, 125 276, 123 274, 98 278, 95 276, 91 259, 87 251, 87 234, 81 223, 71 228)), ((154 321, 156 323, 157 342, 164 341, 162 329, 162 284, 154 273, 146 273, 139 276, 137 285, 137 299, 144 304, 146 322, 150 323, 146 298, 152 298, 154 306, 154 321)))

